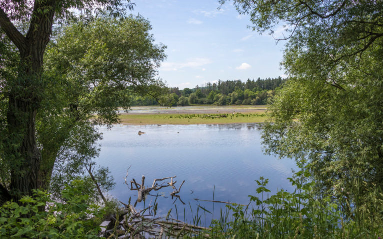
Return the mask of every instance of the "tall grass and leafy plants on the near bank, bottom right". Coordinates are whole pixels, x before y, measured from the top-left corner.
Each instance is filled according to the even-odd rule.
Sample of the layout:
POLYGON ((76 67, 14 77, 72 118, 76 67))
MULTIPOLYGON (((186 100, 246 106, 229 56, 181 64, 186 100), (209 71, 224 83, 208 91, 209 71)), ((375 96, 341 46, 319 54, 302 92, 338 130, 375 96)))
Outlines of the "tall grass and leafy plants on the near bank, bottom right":
MULTIPOLYGON (((189 234, 184 238, 206 238, 206 235, 214 239, 383 238, 383 195, 379 189, 366 192, 368 200, 356 198, 351 214, 346 215, 333 195, 318 197, 313 193, 314 182, 307 180, 309 176, 308 171, 295 173, 288 178, 294 192, 279 190, 270 197, 268 180, 261 177, 256 180, 259 196, 249 195, 248 206, 228 204, 203 236, 189 234), (358 201, 369 203, 359 205, 358 201)), ((198 211, 194 218, 194 223, 200 223, 198 211)))

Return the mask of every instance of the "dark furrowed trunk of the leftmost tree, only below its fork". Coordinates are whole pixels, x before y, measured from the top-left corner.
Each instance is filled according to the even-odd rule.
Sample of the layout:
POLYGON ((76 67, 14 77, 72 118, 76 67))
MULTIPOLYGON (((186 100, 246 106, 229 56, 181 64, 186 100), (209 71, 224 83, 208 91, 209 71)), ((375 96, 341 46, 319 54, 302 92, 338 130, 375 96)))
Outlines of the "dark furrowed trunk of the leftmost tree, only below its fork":
POLYGON ((33 45, 26 52, 20 50, 20 70, 8 98, 8 140, 12 142, 8 159, 14 160, 10 171, 10 193, 15 202, 23 195, 31 195, 32 189, 37 189, 41 158, 36 144, 35 116, 40 103, 44 51, 33 45))

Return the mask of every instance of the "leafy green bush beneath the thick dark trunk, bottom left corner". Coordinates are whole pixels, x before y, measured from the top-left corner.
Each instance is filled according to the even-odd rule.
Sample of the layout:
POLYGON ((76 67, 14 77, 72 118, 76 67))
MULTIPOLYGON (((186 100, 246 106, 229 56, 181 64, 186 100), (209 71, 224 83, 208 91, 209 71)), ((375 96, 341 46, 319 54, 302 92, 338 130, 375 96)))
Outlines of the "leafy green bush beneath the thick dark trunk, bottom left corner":
POLYGON ((72 181, 62 191, 65 202, 52 201, 47 193, 34 190, 33 197, 22 197, 21 206, 5 203, 0 208, 0 238, 99 238, 103 210, 86 203, 84 187, 83 181, 72 181))

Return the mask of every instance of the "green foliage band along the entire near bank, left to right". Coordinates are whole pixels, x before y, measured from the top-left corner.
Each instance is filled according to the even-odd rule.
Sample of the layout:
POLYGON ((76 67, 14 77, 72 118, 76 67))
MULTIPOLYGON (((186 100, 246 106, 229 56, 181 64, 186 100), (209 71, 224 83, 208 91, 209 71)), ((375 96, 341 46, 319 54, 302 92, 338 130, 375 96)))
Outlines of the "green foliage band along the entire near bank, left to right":
MULTIPOLYGON (((294 192, 279 190, 275 195, 269 196, 268 179, 261 177, 256 180, 258 195, 249 196, 248 206, 229 204, 226 209, 221 208, 219 217, 211 222, 208 229, 201 227, 202 215, 198 215, 198 210, 193 226, 172 221, 171 210, 165 219, 156 215, 157 206, 137 213, 130 204, 125 205, 134 212, 128 213, 134 222, 125 222, 129 229, 125 235, 142 233, 142 227, 138 227, 137 232, 133 230, 134 227, 129 227, 130 224, 137 226, 141 218, 145 227, 155 223, 166 224, 168 231, 164 236, 169 234, 183 238, 377 239, 383 235, 382 217, 371 213, 372 210, 382 212, 383 201, 376 200, 371 208, 355 205, 351 212, 353 216, 348 217, 334 195, 316 195, 313 187, 315 183, 310 178, 307 170, 299 171, 288 178, 295 188, 294 192), (152 215, 152 219, 142 216, 148 214, 152 215)), ((358 186, 363 185, 356 185, 358 186)), ((41 191, 34 191, 33 197, 23 197, 21 206, 7 202, 0 208, 0 238, 97 238, 105 210, 89 204, 88 196, 82 194, 86 187, 84 181, 74 180, 63 190, 63 202, 54 202, 41 191), (45 205, 45 201, 45 211, 38 211, 39 207, 45 205)), ((382 192, 371 191, 365 197, 370 200, 382 197, 382 192)), ((201 206, 198 208, 205 214, 210 213, 201 206)), ((109 235, 124 235, 125 231, 121 231, 121 227, 117 228, 117 225, 118 223, 109 230, 109 235)))

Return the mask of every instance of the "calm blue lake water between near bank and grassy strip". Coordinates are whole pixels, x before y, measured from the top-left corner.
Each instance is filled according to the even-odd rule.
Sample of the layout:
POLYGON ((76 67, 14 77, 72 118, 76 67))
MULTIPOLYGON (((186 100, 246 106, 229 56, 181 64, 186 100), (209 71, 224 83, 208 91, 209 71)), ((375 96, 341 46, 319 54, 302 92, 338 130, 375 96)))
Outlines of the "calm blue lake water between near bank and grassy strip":
MULTIPOLYGON (((160 197, 159 214, 166 215, 171 207, 177 207, 178 217, 184 219, 185 207, 186 219, 190 220, 198 205, 212 212, 212 203, 193 199, 213 200, 213 189, 214 200, 248 204, 248 195, 256 195, 254 180, 260 176, 269 179, 271 193, 277 188, 292 189, 286 178, 296 168, 294 161, 264 155, 257 124, 117 125, 111 130, 101 127, 100 131, 103 140, 99 142, 101 152, 96 161, 109 167, 117 183, 109 193, 120 201, 127 203, 132 197, 134 203, 136 199, 135 191, 129 191, 124 184, 129 166, 128 181, 134 178, 140 183, 144 175, 146 186, 151 186, 155 178, 174 175, 177 188, 186 181, 180 192, 186 205, 160 197), (138 131, 146 134, 138 135, 138 131)), ((172 191, 159 192, 167 197, 172 191)), ((146 204, 150 201, 153 203, 154 197, 148 196, 146 204)), ((216 214, 221 206, 214 204, 216 214)))

